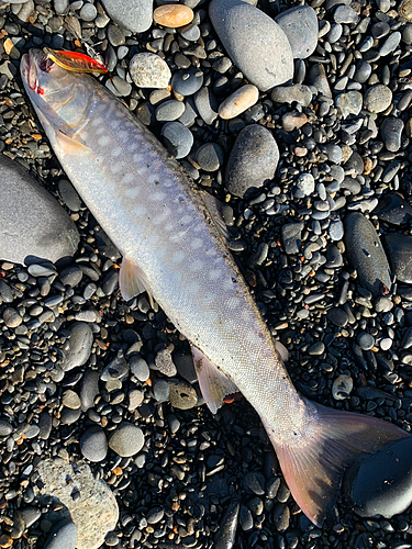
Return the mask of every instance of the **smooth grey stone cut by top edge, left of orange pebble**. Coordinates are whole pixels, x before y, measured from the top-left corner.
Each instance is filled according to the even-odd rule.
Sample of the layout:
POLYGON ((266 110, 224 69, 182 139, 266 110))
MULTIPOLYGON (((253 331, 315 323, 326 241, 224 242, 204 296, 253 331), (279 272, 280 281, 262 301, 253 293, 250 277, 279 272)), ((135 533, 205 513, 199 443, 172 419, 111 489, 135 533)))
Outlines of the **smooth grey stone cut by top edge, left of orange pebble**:
POLYGON ((108 14, 134 33, 143 33, 152 25, 153 0, 102 0, 108 14))

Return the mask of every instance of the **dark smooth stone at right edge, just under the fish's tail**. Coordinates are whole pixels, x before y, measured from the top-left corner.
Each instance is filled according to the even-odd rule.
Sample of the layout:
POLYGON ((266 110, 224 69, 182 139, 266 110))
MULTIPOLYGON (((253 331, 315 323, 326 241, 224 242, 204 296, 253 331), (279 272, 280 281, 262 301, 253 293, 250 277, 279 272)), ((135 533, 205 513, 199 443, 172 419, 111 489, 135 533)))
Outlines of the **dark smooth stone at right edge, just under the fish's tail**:
POLYGON ((391 518, 403 513, 412 503, 412 437, 355 463, 344 485, 363 517, 391 518))

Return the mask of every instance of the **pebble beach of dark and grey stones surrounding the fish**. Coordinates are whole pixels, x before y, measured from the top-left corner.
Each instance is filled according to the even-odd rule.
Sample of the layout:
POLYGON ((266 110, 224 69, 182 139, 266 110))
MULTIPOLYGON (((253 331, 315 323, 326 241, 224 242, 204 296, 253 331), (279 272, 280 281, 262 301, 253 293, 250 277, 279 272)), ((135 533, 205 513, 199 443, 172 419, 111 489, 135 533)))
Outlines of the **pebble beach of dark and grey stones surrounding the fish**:
POLYGON ((316 527, 254 408, 211 414, 189 343, 122 299, 25 94, 33 47, 107 66, 219 199, 297 389, 411 433, 411 0, 0 0, 0 548, 411 548, 410 438, 316 527))

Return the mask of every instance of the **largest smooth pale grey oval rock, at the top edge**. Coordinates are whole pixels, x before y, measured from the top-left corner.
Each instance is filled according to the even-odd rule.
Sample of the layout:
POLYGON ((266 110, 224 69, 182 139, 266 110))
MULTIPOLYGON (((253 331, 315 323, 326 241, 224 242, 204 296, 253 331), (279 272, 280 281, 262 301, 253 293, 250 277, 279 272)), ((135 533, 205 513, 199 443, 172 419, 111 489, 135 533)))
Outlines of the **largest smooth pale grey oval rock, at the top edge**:
POLYGON ((266 13, 242 0, 212 0, 209 15, 229 57, 259 90, 293 78, 289 41, 266 13))

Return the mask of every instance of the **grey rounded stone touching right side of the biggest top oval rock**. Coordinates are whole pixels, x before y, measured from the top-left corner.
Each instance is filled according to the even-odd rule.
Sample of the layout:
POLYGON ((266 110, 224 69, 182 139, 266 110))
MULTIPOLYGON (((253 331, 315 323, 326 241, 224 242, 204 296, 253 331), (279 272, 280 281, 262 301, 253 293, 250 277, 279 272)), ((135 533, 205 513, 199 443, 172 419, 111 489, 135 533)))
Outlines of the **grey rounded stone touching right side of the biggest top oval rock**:
POLYGON ((294 59, 305 59, 318 45, 318 16, 310 5, 297 5, 275 18, 287 35, 294 59))

